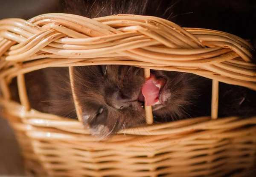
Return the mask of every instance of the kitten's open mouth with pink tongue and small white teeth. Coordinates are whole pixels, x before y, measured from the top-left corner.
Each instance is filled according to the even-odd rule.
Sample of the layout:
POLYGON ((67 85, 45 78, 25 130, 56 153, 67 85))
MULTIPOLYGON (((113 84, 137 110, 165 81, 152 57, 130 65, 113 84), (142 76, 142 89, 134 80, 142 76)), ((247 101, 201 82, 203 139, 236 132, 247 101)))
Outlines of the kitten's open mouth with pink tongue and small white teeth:
POLYGON ((165 83, 166 80, 162 77, 156 78, 154 74, 151 74, 150 78, 145 81, 141 88, 138 101, 141 103, 144 102, 145 99, 145 106, 154 106, 157 104, 161 104, 159 98, 165 83))

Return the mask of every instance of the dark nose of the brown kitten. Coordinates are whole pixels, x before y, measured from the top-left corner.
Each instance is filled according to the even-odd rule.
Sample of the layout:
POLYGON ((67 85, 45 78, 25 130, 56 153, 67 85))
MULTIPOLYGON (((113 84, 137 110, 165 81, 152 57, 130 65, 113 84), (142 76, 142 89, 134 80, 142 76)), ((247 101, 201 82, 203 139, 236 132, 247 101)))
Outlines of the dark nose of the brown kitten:
POLYGON ((112 105, 116 109, 120 110, 125 107, 129 107, 131 104, 131 98, 125 96, 122 92, 116 92, 113 96, 112 105))

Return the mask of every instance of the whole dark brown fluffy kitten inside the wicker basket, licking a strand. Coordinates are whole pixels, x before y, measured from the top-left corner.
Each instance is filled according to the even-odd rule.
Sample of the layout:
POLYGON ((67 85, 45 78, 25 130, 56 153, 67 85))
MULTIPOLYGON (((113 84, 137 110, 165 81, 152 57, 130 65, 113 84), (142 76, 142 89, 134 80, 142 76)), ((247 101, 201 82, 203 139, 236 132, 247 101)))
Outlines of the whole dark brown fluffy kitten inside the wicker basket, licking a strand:
MULTIPOLYGON (((248 10, 250 4, 242 0, 232 3, 205 0, 63 0, 62 3, 64 12, 90 18, 112 14, 153 15, 184 27, 210 28, 253 38, 250 34, 253 34, 254 24, 248 18, 252 13, 248 10), (243 21, 237 26, 234 19, 243 21)), ((153 105, 156 122, 210 115, 211 80, 193 74, 151 70, 151 79, 145 82, 141 68, 100 65, 74 67, 73 75, 83 123, 93 135, 102 138, 120 129, 145 124, 144 97, 146 104, 153 105), (153 90, 153 95, 148 96, 149 90, 153 90)), ((68 68, 46 68, 25 76, 33 108, 76 118, 68 68)), ((219 117, 256 115, 254 91, 220 83, 219 96, 219 117)))

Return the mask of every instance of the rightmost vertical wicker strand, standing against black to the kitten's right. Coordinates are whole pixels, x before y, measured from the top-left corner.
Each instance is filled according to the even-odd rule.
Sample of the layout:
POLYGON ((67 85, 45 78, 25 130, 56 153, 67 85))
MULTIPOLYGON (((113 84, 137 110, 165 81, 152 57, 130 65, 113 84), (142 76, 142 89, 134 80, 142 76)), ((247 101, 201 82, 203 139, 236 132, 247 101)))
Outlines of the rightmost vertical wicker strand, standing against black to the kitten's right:
POLYGON ((212 119, 218 118, 218 81, 212 80, 212 119))

